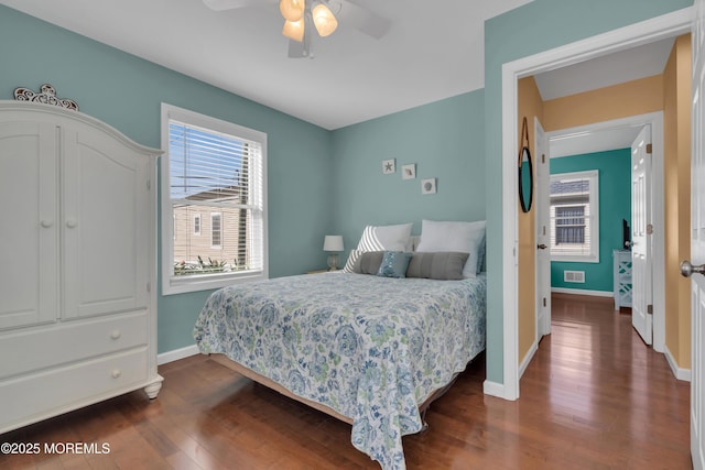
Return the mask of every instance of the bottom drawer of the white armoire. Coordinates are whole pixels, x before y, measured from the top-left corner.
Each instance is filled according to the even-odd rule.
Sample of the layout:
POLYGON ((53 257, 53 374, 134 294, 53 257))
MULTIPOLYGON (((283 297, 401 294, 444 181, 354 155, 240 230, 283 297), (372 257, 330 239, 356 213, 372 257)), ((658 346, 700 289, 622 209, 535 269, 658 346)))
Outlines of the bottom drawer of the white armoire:
POLYGON ((148 348, 0 381, 0 433, 143 386, 148 348))

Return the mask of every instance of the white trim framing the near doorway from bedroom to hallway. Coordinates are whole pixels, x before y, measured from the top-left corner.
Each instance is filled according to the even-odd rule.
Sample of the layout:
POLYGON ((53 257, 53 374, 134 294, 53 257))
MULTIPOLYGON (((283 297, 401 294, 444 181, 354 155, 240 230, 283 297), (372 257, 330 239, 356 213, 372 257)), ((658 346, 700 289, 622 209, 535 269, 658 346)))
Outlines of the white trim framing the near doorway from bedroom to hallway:
POLYGON ((518 80, 520 78, 691 32, 693 7, 523 57, 502 65, 502 384, 485 383, 485 393, 519 398, 518 331, 518 195, 516 155, 519 146, 518 80))

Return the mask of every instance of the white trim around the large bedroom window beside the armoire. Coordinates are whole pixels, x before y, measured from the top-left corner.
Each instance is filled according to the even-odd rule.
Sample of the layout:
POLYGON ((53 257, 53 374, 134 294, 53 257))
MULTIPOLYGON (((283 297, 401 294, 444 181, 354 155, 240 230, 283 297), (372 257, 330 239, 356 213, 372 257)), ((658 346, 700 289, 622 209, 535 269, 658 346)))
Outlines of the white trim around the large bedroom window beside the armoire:
POLYGON ((160 159, 161 171, 161 244, 162 244, 162 295, 183 294, 188 292, 207 291, 226 285, 253 282, 269 278, 269 236, 268 236, 268 206, 267 206, 267 133, 248 129, 231 122, 200 114, 187 109, 177 108, 167 103, 161 107, 162 150, 164 154, 160 159), (257 272, 238 272, 212 274, 208 276, 194 276, 183 280, 174 280, 171 273, 174 253, 174 216, 170 194, 170 167, 169 167, 169 121, 176 120, 193 125, 210 129, 226 134, 238 135, 242 139, 260 142, 262 152, 262 270, 257 272))

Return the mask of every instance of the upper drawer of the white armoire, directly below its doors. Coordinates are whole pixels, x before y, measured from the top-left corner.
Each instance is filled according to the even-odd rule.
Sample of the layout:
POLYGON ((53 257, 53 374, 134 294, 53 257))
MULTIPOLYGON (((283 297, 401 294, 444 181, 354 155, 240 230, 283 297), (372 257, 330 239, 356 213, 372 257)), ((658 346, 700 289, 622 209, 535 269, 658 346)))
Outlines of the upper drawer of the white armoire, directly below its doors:
POLYGON ((9 331, 0 335, 0 379, 144 346, 148 338, 145 310, 9 331))

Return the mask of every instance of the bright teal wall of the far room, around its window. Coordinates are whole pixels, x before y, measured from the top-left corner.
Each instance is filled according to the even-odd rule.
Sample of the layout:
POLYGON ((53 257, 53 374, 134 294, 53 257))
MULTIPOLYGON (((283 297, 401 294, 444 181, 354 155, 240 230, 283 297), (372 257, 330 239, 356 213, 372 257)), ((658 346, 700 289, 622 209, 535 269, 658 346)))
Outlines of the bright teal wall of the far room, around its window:
POLYGON ((551 159, 551 174, 598 171, 599 263, 551 262, 551 287, 612 292, 612 250, 622 245, 622 219, 631 226, 631 149, 551 159), (563 271, 585 271, 585 284, 563 271))

